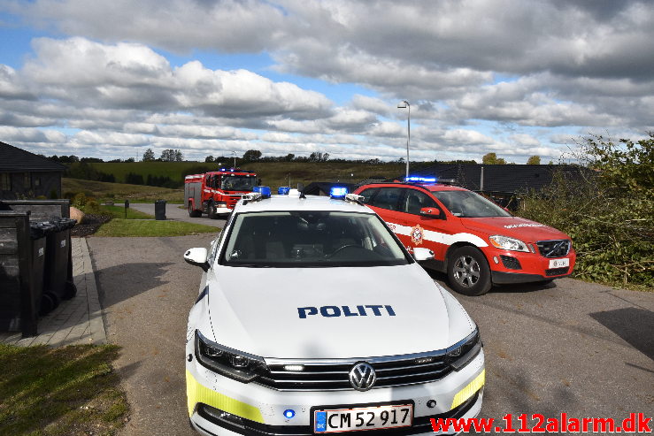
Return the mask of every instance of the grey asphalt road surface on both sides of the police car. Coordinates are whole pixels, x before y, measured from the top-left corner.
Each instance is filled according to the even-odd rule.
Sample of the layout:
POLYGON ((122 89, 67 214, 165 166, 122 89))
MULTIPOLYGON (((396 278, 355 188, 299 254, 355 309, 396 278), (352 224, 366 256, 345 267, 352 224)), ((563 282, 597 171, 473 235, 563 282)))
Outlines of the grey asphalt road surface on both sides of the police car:
MULTIPOLYGON (((133 408, 123 435, 195 434, 186 411, 184 335, 200 270, 182 254, 212 237, 88 239, 133 408)), ((654 415, 654 293, 559 279, 456 295, 485 345, 482 417, 654 415)))

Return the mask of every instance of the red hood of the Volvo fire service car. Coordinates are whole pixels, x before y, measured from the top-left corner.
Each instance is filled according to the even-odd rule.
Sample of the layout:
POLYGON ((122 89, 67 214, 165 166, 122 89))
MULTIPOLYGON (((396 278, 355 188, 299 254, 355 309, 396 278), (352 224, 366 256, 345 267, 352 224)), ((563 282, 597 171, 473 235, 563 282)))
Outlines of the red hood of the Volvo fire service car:
POLYGON ((461 223, 473 231, 500 234, 525 242, 570 239, 566 233, 553 227, 519 217, 461 218, 461 223))

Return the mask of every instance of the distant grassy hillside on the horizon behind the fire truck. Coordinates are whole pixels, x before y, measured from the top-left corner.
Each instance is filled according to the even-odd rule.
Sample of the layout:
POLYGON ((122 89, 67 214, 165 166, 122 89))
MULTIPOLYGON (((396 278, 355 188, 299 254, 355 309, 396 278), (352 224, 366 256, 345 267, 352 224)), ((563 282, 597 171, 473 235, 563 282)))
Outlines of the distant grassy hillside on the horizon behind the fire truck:
MULTIPOLYGON (((148 175, 167 176, 172 180, 179 180, 183 187, 183 175, 189 172, 204 172, 218 169, 217 164, 204 164, 201 162, 135 162, 135 163, 104 163, 92 164, 97 171, 113 174, 116 180, 124 181, 127 173, 141 174, 143 179, 148 175)), ((357 183, 372 176, 386 178, 396 177, 404 173, 404 164, 357 164, 351 162, 262 162, 242 164, 244 170, 257 172, 262 183, 270 187, 288 186, 296 187, 297 183, 308 185, 312 181, 342 181, 357 183)), ((93 183, 93 182, 92 182, 93 183)), ((96 183, 96 182, 95 182, 96 183)), ((127 185, 139 187, 140 185, 127 185)), ((164 189, 164 188, 158 188, 164 189)), ((167 190, 170 191, 170 190, 167 190)), ((135 194, 143 192, 135 190, 135 194)), ((166 191, 162 191, 164 194, 166 191)), ((173 195, 173 194, 171 194, 173 195)), ((154 198, 153 198, 154 199, 154 198)), ((166 200, 166 198, 163 198, 166 200)))

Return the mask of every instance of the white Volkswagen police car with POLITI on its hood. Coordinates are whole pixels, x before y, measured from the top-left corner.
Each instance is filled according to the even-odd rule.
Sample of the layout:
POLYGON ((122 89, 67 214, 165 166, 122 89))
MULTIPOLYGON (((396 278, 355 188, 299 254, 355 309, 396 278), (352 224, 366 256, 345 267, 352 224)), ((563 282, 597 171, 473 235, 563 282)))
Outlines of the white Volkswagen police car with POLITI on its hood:
POLYGON ((381 218, 358 195, 260 191, 236 205, 211 249, 184 256, 204 270, 187 332, 191 425, 381 436, 476 417, 477 327, 381 218))

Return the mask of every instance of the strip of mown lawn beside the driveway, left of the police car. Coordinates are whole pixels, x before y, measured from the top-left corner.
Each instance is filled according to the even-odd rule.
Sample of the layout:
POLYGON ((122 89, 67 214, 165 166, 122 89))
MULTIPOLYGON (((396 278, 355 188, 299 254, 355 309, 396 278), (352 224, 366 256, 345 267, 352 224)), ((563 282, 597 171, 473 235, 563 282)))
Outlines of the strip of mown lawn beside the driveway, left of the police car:
POLYGON ((106 237, 165 237, 187 234, 218 233, 220 229, 182 221, 155 221, 152 219, 113 218, 100 227, 95 236, 106 237))

